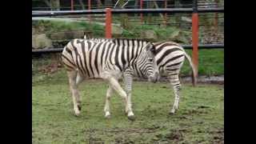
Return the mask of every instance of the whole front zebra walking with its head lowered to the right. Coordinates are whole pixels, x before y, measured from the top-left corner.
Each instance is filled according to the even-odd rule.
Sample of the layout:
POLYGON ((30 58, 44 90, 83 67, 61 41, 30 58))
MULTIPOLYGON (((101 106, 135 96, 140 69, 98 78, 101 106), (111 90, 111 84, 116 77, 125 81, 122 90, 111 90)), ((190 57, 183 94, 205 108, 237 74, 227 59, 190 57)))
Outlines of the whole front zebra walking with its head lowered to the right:
MULTIPOLYGON (((62 51, 62 62, 66 67, 70 91, 74 103, 74 114, 79 115, 81 98, 78 85, 85 78, 102 78, 109 82, 108 94, 115 90, 124 100, 128 118, 134 113, 127 94, 118 83, 122 73, 130 66, 138 67, 150 82, 156 82, 158 68, 154 60, 155 48, 149 42, 145 46, 132 48, 113 42, 94 42, 86 39, 70 41, 62 51)), ((110 117, 109 97, 106 97, 105 117, 110 117)))

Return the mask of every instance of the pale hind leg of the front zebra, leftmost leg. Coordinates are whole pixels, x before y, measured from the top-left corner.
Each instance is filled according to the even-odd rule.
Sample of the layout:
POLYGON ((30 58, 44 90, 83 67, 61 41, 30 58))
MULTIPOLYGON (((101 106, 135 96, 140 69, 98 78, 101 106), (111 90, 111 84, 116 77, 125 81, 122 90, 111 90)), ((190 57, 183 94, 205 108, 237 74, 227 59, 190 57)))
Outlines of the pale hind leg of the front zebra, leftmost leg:
POLYGON ((80 114, 80 108, 78 106, 78 101, 80 96, 78 93, 78 86, 76 84, 77 73, 78 72, 76 70, 67 71, 69 82, 70 82, 70 91, 72 94, 73 105, 74 105, 74 115, 76 116, 80 114))

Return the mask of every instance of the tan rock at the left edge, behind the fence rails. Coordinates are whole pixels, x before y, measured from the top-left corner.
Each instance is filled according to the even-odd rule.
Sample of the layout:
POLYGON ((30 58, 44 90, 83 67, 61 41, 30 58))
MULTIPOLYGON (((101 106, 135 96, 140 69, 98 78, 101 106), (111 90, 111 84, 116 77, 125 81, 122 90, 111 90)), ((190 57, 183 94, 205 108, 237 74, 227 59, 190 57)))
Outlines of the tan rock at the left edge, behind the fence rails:
POLYGON ((53 47, 53 45, 51 40, 46 37, 46 34, 34 34, 32 35, 32 47, 34 47, 34 49, 42 49, 53 47))

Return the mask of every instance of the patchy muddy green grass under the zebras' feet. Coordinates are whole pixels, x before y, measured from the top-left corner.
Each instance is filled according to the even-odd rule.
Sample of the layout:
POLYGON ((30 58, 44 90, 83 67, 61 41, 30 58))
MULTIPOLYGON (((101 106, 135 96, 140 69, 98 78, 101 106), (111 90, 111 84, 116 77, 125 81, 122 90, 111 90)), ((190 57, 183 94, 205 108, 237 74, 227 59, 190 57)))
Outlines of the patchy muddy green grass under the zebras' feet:
POLYGON ((46 75, 32 86, 32 141, 37 143, 223 143, 223 86, 182 86, 178 113, 168 83, 134 82, 130 122, 121 98, 111 98, 112 117, 104 118, 106 82, 88 80, 79 87, 82 114, 73 115, 66 72, 46 75))

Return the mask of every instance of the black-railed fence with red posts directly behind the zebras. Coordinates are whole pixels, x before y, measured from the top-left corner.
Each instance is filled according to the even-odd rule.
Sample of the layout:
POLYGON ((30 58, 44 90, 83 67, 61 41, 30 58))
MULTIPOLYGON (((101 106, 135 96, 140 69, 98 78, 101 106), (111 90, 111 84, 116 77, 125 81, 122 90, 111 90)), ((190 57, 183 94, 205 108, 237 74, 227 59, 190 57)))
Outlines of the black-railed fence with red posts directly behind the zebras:
MULTIPOLYGON (((142 1, 141 1, 142 2, 142 1)), ((45 16, 58 16, 66 14, 106 14, 106 38, 111 38, 111 21, 112 14, 142 14, 143 13, 192 13, 192 60, 196 67, 196 76, 198 76, 198 47, 204 48, 220 48, 224 45, 202 45, 198 46, 198 13, 216 13, 224 12, 224 8, 198 8, 197 0, 194 0, 193 8, 174 8, 174 9, 101 9, 101 10, 62 10, 62 11, 32 11, 32 17, 45 17, 45 16)), ((185 48, 191 48, 190 46, 184 46, 185 48)), ((32 53, 49 53, 59 52, 62 49, 48 49, 48 50, 32 50, 32 53)))

